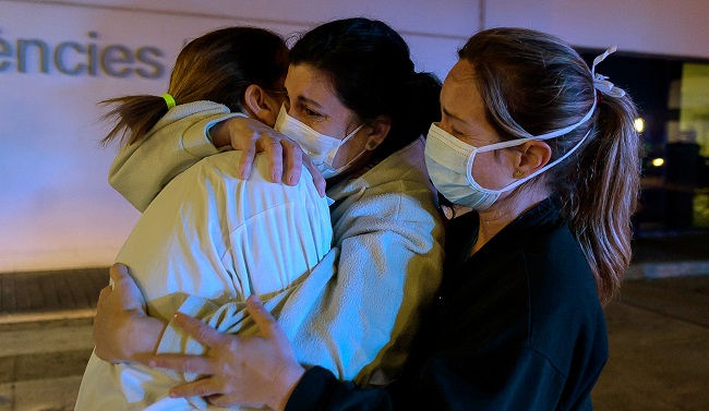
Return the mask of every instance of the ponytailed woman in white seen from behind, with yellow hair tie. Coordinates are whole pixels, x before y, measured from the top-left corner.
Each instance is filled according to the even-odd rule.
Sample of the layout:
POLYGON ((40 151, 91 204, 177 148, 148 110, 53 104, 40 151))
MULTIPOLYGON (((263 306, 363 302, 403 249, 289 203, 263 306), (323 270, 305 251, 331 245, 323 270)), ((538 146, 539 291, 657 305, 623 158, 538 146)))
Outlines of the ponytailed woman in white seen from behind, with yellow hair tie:
MULTIPOLYGON (((207 33, 181 50, 168 94, 104 101, 110 107, 107 118, 116 120, 104 142, 130 137, 123 138, 123 153, 137 150, 158 144, 175 133, 177 123, 194 118, 249 117, 274 124, 287 69, 288 48, 275 33, 255 27, 207 33)), ((181 143, 194 146, 189 138, 181 143)), ((113 333, 140 342, 130 347, 113 341, 125 353, 121 359, 134 360, 156 348, 184 352, 157 344, 161 335, 165 341, 179 340, 169 338, 166 323, 181 306, 281 292, 302 282, 329 251, 329 210, 310 179, 295 186, 273 184, 261 173, 242 180, 235 166, 241 155, 231 150, 206 158, 170 181, 149 206, 135 204, 144 213, 117 261, 130 264, 128 278, 142 300, 133 309, 149 314, 145 323, 155 327, 112 323, 113 333)), ((263 170, 266 164, 256 166, 263 170)), ((107 356, 107 351, 99 346, 89 359, 76 410, 199 407, 195 400, 168 397, 168 389, 183 379, 136 363, 111 364, 101 359, 117 362, 121 355, 107 356)))

